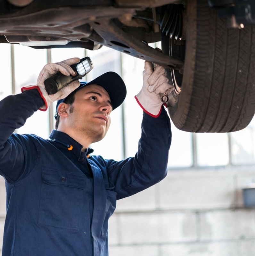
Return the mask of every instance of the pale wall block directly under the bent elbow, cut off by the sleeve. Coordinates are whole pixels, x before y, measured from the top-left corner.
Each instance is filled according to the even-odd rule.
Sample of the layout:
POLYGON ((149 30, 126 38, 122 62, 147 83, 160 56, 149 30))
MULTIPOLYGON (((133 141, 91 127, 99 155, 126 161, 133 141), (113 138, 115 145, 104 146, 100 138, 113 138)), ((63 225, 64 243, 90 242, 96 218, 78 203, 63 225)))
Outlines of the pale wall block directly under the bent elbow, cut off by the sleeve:
POLYGON ((117 201, 115 212, 155 210, 155 194, 155 186, 152 186, 135 195, 120 199, 117 201))

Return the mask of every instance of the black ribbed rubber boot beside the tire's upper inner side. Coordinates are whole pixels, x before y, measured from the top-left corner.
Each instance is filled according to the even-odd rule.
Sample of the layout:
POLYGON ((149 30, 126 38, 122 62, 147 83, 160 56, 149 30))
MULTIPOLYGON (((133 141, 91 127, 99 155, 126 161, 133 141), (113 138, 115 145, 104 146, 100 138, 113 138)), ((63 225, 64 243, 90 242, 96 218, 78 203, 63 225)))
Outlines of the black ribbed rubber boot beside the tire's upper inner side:
POLYGON ((183 5, 168 4, 162 9, 160 20, 160 29, 166 32, 166 36, 170 34, 172 39, 181 39, 183 33, 183 5))

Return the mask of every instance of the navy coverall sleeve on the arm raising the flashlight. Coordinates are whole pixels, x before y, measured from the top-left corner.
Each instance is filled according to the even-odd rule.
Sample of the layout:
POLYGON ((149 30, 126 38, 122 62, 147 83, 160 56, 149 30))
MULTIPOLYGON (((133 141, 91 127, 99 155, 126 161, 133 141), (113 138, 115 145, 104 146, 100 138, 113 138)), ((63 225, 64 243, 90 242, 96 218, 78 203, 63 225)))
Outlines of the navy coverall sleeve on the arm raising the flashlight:
POLYGON ((9 183, 25 177, 37 158, 36 146, 29 136, 13 132, 43 104, 37 89, 0 101, 0 175, 9 183))

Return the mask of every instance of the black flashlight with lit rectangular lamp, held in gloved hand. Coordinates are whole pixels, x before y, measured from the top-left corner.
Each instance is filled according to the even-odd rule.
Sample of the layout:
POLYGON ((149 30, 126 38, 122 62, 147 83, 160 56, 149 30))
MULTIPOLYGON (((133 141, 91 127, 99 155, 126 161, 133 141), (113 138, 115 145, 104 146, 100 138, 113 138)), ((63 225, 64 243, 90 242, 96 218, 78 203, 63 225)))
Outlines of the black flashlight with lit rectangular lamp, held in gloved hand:
POLYGON ((61 72, 57 72, 55 75, 44 81, 48 95, 55 94, 71 82, 86 76, 86 74, 93 69, 93 64, 89 57, 85 57, 81 59, 79 63, 70 65, 70 67, 76 72, 74 76, 65 76, 61 72))

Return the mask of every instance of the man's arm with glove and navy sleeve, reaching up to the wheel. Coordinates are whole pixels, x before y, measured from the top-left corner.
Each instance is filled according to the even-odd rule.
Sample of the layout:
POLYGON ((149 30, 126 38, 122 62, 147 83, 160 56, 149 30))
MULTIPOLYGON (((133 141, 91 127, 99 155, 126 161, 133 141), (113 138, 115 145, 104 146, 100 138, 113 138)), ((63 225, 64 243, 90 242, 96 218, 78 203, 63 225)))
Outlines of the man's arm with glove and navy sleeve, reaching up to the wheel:
POLYGON ((161 95, 167 98, 174 87, 166 77, 166 70, 158 65, 154 70, 150 62, 144 64, 143 80, 143 87, 135 97, 144 110, 136 156, 120 162, 109 161, 108 176, 117 199, 136 194, 167 174, 172 135, 161 95))

